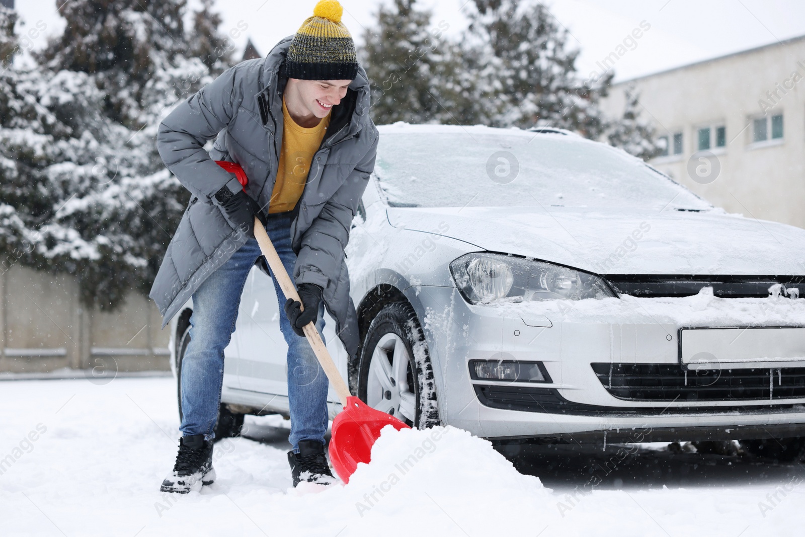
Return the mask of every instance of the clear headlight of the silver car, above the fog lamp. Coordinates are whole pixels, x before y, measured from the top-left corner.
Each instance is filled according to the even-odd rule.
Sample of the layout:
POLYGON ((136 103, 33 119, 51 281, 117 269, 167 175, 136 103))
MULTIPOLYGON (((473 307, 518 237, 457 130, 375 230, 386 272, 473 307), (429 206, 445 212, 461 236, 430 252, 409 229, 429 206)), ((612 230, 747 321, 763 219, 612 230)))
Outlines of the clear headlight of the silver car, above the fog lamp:
POLYGON ((450 263, 464 299, 473 304, 497 299, 604 299, 615 293, 601 277, 544 261, 504 254, 465 254, 450 263))

